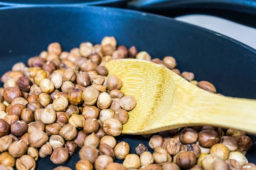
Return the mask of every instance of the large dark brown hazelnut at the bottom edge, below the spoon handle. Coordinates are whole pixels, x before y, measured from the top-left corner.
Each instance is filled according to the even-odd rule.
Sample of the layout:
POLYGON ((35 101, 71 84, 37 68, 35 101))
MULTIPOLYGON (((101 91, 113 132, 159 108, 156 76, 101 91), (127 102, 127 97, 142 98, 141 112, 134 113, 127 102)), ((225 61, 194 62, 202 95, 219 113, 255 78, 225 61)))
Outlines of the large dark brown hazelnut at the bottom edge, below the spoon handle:
POLYGON ((190 169, 195 166, 196 157, 194 153, 190 151, 179 153, 176 159, 176 163, 183 169, 190 169))

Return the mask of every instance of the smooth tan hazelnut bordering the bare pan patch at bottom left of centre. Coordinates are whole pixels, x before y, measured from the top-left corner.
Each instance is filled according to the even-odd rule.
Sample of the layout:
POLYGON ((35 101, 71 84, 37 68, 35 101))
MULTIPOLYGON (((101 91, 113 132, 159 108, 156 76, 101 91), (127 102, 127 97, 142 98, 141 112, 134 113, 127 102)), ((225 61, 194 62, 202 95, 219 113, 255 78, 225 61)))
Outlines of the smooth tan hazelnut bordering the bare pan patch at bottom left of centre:
POLYGON ((99 151, 95 147, 92 147, 90 145, 84 145, 79 152, 79 158, 81 160, 87 159, 92 164, 94 164, 98 156, 99 151))

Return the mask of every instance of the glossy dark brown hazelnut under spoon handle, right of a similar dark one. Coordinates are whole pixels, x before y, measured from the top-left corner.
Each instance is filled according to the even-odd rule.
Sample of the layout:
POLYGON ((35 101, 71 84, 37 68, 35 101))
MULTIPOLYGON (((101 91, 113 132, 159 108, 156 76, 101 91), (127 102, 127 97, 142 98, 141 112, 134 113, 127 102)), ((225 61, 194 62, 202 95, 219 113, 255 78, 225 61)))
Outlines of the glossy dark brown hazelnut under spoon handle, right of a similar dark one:
POLYGON ((202 147, 212 147, 218 140, 218 133, 213 130, 202 130, 198 133, 198 142, 202 147))

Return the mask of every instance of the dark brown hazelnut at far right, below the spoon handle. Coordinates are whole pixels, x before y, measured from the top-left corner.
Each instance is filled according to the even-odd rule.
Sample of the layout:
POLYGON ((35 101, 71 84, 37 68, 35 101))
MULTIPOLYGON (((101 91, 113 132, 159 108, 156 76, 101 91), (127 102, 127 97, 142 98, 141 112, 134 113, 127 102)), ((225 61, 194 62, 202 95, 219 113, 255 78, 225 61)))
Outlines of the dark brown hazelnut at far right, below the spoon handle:
POLYGON ((250 139, 249 136, 239 136, 236 137, 235 139, 239 146, 236 151, 241 152, 244 155, 253 146, 252 139, 250 139))

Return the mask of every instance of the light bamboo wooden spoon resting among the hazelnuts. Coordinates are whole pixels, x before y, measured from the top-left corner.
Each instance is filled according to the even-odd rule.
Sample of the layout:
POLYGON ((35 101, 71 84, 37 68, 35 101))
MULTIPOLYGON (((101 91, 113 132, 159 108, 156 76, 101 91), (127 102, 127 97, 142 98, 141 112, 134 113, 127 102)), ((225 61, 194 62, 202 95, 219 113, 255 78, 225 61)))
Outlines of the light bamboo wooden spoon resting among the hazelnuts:
POLYGON ((219 96, 187 82, 173 71, 145 60, 118 59, 105 65, 134 96, 124 134, 149 134, 177 127, 212 125, 256 134, 256 100, 219 96))

